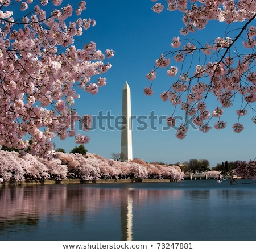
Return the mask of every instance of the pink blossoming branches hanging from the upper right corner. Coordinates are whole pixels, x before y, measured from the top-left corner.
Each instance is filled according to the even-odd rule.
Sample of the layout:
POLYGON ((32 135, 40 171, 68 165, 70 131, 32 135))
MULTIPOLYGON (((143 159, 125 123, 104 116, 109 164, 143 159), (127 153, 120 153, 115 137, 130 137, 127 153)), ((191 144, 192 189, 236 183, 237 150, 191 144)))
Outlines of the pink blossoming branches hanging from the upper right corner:
MULTIPOLYGON (((156 0, 152 0, 155 2, 156 0)), ((238 120, 233 124, 234 132, 241 132, 240 117, 256 101, 255 35, 256 2, 254 0, 167 0, 155 3, 152 10, 183 13, 184 27, 180 35, 173 38, 171 50, 163 53, 146 78, 151 86, 144 89, 152 95, 153 82, 159 68, 166 68, 170 77, 169 89, 160 97, 169 100, 175 107, 185 111, 185 123, 177 125, 176 137, 183 139, 188 131, 188 123, 193 120, 200 131, 208 132, 214 121, 216 129, 223 129, 225 108, 232 106, 235 98, 241 98, 237 107, 238 120), (184 36, 207 27, 210 20, 224 22, 225 34, 212 41, 185 39, 184 36), (215 100, 216 108, 207 108, 209 98, 215 100)), ((210 31, 209 31, 210 32, 210 31)), ((203 39, 207 39, 204 37, 203 39)), ((175 110, 174 110, 175 111, 175 110)), ((256 123, 256 116, 252 118, 256 123)), ((176 124, 175 115, 167 119, 167 124, 176 124)))

